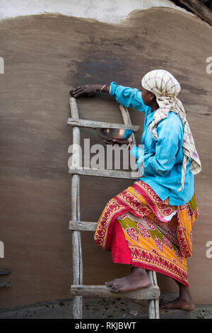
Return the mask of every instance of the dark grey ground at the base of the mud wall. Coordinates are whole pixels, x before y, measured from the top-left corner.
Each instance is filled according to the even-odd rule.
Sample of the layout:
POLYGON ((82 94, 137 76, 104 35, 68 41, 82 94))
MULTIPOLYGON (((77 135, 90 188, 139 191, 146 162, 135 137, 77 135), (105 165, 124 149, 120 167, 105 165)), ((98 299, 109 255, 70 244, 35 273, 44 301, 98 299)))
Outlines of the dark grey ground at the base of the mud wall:
MULTIPOLYGON (((161 300, 174 299, 176 295, 162 295, 161 300)), ((123 298, 84 298, 84 319, 126 320, 148 319, 147 303, 123 298)), ((0 310, 0 319, 71 319, 72 300, 36 303, 24 307, 0 310)), ((160 310, 160 319, 212 319, 212 305, 196 305, 194 311, 160 310)))

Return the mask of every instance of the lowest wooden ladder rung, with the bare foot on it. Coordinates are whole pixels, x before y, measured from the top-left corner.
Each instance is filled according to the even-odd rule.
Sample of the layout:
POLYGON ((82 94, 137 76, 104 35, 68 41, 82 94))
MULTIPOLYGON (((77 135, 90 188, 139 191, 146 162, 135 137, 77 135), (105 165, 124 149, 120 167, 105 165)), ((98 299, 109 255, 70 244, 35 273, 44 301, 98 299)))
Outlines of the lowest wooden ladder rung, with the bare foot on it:
POLYGON ((131 298, 134 300, 158 300, 160 289, 158 286, 149 286, 137 290, 127 291, 126 293, 113 293, 106 286, 85 286, 72 285, 71 295, 112 297, 112 298, 131 298))

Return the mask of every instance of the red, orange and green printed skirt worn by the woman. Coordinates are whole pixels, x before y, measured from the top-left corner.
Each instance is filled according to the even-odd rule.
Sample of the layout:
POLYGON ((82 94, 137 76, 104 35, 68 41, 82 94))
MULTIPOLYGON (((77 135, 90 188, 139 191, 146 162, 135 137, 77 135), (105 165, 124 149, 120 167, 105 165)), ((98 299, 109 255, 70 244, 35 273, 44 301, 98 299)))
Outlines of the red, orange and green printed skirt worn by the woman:
POLYGON ((182 206, 168 203, 136 181, 107 203, 95 242, 111 251, 116 263, 163 273, 189 286, 187 257, 192 255, 192 224, 199 217, 195 196, 182 206))

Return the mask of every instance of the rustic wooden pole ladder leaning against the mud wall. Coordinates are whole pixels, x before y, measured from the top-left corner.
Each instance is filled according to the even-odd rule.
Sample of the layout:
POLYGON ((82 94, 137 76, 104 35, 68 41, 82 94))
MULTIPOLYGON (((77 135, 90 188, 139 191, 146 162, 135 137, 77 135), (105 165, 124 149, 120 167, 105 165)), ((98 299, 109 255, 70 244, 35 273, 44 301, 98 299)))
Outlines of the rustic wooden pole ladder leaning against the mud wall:
MULTIPOLYGON (((131 118, 127 108, 120 105, 120 111, 124 124, 103 123, 91 120, 81 120, 78 116, 78 108, 76 99, 69 99, 71 118, 68 119, 68 125, 73 126, 73 145, 80 145, 80 127, 88 128, 124 128, 139 130, 139 126, 131 125, 131 118)), ((134 134, 131 140, 136 144, 134 134)), ((76 152, 78 154, 78 152, 76 152)), ((76 155, 75 155, 76 156, 76 155)), ((151 280, 151 286, 126 293, 112 293, 106 286, 85 286, 83 285, 83 259, 81 246, 81 231, 95 232, 96 222, 82 222, 80 209, 80 175, 103 176, 121 179, 132 179, 131 171, 107 170, 107 169, 88 169, 83 168, 80 163, 80 154, 76 156, 78 165, 69 168, 71 176, 71 221, 69 222, 69 230, 72 231, 72 258, 73 258, 73 285, 71 286, 71 295, 73 295, 73 319, 83 318, 83 296, 99 296, 110 298, 129 298, 134 300, 148 300, 149 318, 159 318, 159 296, 160 289, 158 287, 155 271, 148 271, 151 280)))

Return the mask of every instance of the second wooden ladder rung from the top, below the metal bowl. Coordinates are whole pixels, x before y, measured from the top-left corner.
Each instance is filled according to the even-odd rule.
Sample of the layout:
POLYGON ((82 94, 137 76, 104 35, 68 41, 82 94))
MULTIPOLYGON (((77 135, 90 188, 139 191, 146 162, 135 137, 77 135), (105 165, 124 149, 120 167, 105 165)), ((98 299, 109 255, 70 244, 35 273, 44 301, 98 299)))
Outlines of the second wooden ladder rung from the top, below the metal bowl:
POLYGON ((107 178, 121 178, 121 179, 138 179, 141 174, 136 172, 131 173, 131 171, 121 171, 121 170, 107 170, 107 169, 88 169, 88 168, 78 168, 69 169, 69 174, 82 174, 84 176, 97 176, 97 177, 107 177, 107 178), (135 176, 132 176, 134 174, 135 176))

